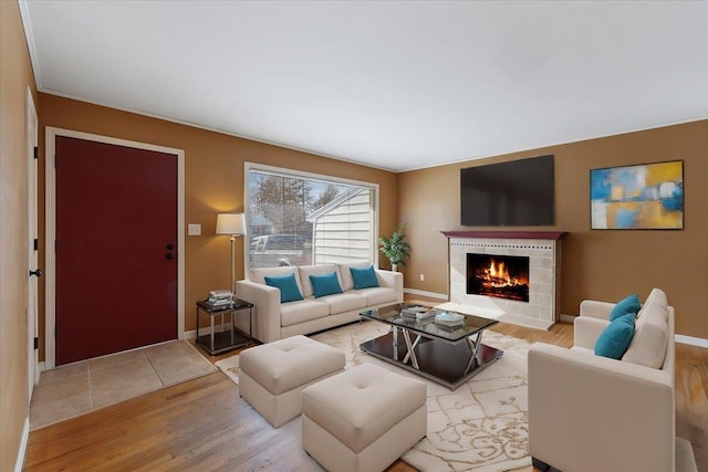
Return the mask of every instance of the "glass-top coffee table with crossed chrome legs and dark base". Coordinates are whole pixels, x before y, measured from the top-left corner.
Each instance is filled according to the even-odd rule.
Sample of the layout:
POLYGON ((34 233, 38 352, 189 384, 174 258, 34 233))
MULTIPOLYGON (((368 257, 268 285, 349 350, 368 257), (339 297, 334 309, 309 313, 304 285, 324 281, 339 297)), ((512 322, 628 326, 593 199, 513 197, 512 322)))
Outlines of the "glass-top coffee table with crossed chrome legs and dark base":
MULTIPOLYGON (((451 329, 439 326, 434 316, 416 319, 400 314, 403 308, 414 306, 421 305, 406 303, 360 313, 363 318, 391 326, 391 332, 361 344, 360 348, 450 390, 503 356, 503 350, 482 344, 485 329, 498 324, 498 321, 464 315, 465 324, 451 329)), ((426 308, 436 315, 454 313, 426 308)))

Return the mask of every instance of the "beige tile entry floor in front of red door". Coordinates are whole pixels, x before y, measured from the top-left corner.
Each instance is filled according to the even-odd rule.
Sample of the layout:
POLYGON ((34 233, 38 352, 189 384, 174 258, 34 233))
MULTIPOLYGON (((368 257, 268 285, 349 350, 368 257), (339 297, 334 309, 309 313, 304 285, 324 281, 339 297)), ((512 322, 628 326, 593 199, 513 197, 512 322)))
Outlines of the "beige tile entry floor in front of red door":
POLYGON ((35 430, 218 370, 192 345, 174 340, 45 370, 34 386, 35 430))

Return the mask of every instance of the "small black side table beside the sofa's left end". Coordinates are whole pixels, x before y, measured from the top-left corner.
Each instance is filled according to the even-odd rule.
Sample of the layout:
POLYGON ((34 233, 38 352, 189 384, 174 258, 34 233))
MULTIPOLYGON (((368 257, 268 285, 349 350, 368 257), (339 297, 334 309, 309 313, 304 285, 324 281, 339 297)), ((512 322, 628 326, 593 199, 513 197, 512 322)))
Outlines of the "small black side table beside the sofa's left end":
POLYGON ((253 342, 253 304, 239 298, 233 298, 229 305, 215 306, 206 301, 197 302, 197 344, 204 347, 211 356, 248 346, 253 342), (233 329, 233 317, 248 310, 248 336, 233 329), (199 335, 199 312, 209 315, 209 334, 199 335), (223 315, 229 315, 229 329, 223 329, 223 315), (215 333, 214 318, 221 315, 221 332, 215 333))

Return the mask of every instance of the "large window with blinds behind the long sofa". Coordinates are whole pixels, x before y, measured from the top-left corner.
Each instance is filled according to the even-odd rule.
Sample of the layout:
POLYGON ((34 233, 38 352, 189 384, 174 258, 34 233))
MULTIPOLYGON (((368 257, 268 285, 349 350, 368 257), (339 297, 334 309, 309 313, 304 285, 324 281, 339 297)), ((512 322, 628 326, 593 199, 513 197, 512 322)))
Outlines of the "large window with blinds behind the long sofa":
POLYGON ((375 183, 246 165, 248 268, 377 262, 375 183))

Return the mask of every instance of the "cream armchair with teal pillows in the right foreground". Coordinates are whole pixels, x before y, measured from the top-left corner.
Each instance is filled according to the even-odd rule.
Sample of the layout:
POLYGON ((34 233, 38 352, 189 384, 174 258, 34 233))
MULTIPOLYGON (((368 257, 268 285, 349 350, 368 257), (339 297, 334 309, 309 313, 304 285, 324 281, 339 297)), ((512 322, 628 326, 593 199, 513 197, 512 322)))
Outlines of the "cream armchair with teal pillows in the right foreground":
POLYGON ((529 448, 541 470, 675 470, 674 308, 654 289, 615 360, 594 354, 613 306, 582 302, 571 349, 529 352, 529 448))

